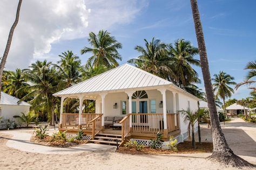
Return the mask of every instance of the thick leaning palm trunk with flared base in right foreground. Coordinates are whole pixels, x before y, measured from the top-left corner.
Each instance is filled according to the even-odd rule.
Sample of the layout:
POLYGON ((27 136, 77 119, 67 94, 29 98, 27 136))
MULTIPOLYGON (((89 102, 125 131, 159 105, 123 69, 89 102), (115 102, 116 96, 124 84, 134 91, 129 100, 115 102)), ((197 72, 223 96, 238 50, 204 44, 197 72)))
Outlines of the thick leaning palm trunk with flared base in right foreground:
POLYGON ((206 46, 204 41, 203 27, 201 25, 197 0, 190 0, 190 2, 194 19, 194 27, 196 29, 201 69, 203 72, 204 85, 212 126, 213 153, 209 157, 209 159, 218 161, 225 165, 231 165, 235 167, 252 166, 252 164, 250 164, 249 162, 245 161, 244 159, 238 157, 233 153, 231 148, 228 146, 224 134, 221 130, 219 117, 217 114, 217 108, 215 105, 215 98, 212 89, 212 82, 208 65, 206 46))

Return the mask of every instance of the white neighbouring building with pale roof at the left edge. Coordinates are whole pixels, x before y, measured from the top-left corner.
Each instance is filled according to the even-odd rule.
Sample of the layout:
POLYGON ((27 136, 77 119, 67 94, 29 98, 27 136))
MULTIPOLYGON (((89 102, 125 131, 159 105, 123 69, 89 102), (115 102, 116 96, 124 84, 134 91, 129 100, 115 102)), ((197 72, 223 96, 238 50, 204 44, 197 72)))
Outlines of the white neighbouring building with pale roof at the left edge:
MULTIPOLYGON (((11 96, 9 94, 1 92, 1 102, 0 102, 0 117, 1 121, 6 119, 14 119, 15 115, 21 115, 21 112, 25 114, 29 112, 31 105, 26 102, 21 102, 18 104, 19 99, 11 96)), ((0 128, 4 128, 4 123, 0 123, 0 128)))

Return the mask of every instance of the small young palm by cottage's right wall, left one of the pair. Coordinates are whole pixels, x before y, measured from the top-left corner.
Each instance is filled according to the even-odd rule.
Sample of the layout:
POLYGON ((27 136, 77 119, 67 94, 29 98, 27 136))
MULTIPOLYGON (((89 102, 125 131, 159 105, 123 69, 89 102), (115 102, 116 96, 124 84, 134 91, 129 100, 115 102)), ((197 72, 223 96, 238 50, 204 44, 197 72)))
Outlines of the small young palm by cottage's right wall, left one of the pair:
POLYGON ((190 126, 192 129, 192 147, 196 148, 196 143, 194 140, 194 124, 197 122, 197 115, 190 109, 179 111, 181 115, 183 115, 184 123, 188 122, 188 134, 190 134, 190 126))

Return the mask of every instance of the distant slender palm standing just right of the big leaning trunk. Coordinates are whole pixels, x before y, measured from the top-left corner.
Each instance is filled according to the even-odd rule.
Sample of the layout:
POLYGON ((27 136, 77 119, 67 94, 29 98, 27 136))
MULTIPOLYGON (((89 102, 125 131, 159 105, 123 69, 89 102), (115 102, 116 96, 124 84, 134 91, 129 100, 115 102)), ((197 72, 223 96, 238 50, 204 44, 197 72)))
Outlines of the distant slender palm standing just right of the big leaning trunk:
POLYGON ((214 82, 212 84, 213 91, 216 93, 216 98, 220 97, 223 100, 224 103, 224 112, 227 117, 226 107, 225 107, 225 98, 231 97, 232 93, 234 93, 233 88, 231 88, 229 85, 235 85, 234 77, 232 77, 229 74, 226 74, 225 72, 221 71, 218 75, 214 74, 214 79, 212 81, 214 82))

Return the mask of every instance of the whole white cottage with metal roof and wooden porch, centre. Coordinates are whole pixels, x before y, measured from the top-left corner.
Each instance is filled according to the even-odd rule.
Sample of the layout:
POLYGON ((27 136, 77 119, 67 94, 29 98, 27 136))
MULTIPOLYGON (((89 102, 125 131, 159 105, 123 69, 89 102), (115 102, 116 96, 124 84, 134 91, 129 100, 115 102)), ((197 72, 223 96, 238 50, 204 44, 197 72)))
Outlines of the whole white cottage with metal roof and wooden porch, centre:
POLYGON ((128 64, 59 91, 54 96, 61 97, 59 130, 77 133, 82 129, 92 141, 100 142, 111 136, 124 141, 128 137, 152 138, 157 132, 163 133, 165 139, 185 133, 188 124, 177 111, 196 110, 199 101, 172 82, 128 64), (63 113, 65 98, 79 99, 79 114, 63 113), (96 114, 83 113, 83 100, 86 99, 95 100, 96 114))

